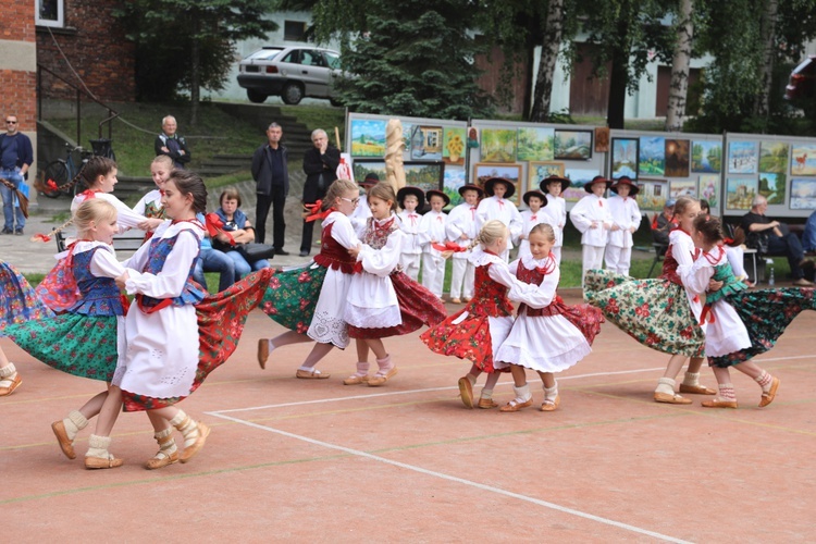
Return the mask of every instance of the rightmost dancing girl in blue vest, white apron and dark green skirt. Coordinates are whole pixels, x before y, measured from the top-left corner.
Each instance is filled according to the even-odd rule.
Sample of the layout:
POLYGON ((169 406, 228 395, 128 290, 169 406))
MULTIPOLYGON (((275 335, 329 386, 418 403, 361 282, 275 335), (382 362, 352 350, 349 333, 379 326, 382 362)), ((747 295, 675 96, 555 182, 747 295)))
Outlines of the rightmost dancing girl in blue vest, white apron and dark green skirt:
POLYGON ((679 272, 692 293, 705 292, 710 279, 722 282, 722 288, 706 297, 702 319, 706 321, 705 353, 717 379, 719 395, 703 401, 706 408, 737 408, 737 395, 729 368, 750 375, 762 387, 759 407, 774 401, 779 379, 750 359, 776 344, 777 338, 802 310, 813 310, 813 288, 746 290, 734 277, 722 246, 720 222, 700 217, 694 221, 692 236, 702 256, 691 268, 679 272))

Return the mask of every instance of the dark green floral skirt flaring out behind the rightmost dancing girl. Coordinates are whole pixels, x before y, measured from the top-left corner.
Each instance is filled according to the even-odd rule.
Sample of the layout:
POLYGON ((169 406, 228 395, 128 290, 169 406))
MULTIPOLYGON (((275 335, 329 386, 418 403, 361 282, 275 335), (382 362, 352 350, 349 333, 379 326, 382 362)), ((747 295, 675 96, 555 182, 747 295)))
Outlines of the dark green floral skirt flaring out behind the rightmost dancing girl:
POLYGON ((728 368, 764 354, 803 310, 816 310, 813 288, 743 290, 727 298, 745 325, 751 347, 709 357, 710 367, 728 368))

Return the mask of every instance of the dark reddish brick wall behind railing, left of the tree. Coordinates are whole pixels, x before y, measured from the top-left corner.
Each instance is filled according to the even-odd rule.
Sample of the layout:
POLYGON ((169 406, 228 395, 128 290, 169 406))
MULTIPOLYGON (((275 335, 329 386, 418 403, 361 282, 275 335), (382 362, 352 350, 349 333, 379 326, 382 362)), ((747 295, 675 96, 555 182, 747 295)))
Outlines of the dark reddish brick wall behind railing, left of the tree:
MULTIPOLYGON (((15 0, 16 1, 16 0, 15 0)), ((33 1, 28 1, 33 4, 33 1)), ((111 11, 114 0, 65 1, 65 28, 37 28, 37 62, 82 87, 54 45, 54 39, 90 91, 102 102, 132 101, 136 96, 134 46, 111 11)), ((45 74, 44 98, 70 98, 75 91, 45 74)))

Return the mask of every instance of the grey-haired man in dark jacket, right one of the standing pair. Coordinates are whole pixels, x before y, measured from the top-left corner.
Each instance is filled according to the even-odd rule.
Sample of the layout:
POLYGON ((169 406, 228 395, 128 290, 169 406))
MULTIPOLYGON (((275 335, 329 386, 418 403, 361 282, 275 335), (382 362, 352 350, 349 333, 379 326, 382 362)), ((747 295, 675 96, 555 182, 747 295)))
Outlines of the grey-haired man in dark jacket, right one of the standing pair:
MULTIPOLYGON (((329 185, 337 178, 339 166, 339 149, 329 145, 325 131, 318 128, 311 133, 314 147, 304 153, 304 205, 312 205, 325 197, 329 185)), ((304 221, 304 236, 300 239, 300 257, 306 257, 311 250, 312 230, 314 223, 304 221)))

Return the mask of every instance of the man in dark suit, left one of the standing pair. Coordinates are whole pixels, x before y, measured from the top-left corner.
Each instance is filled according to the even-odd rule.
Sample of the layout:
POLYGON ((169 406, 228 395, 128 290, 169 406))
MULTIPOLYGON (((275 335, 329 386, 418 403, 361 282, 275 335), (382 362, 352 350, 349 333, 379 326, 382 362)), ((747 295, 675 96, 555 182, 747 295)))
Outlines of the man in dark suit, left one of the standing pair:
POLYGON ((252 154, 252 178, 256 181, 258 203, 256 206, 255 240, 265 243, 267 217, 272 207, 272 238, 275 255, 289 255, 284 250, 286 221, 283 209, 289 194, 288 154, 281 145, 283 128, 272 123, 267 128, 269 143, 259 147, 252 154))

